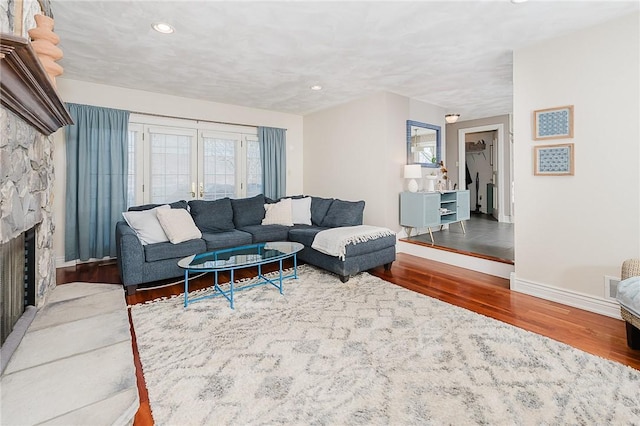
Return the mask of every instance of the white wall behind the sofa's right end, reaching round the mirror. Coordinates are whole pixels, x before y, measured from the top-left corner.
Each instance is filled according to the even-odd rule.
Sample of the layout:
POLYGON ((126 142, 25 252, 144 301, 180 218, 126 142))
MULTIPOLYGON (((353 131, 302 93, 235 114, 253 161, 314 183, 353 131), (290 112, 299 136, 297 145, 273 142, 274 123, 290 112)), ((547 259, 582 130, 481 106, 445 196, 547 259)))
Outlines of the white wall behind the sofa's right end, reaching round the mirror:
POLYGON ((366 224, 401 230, 407 120, 444 130, 444 109, 382 92, 305 116, 305 193, 364 200, 366 224))

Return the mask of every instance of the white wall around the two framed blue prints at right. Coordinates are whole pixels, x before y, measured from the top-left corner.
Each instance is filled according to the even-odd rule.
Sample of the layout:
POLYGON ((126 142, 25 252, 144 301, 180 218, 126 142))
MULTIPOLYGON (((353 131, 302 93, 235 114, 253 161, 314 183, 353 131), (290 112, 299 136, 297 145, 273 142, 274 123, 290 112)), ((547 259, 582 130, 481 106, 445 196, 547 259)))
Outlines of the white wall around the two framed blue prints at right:
POLYGON ((633 14, 514 54, 512 288, 597 304, 604 275, 640 256, 639 22, 633 14), (563 105, 575 107, 573 139, 533 141, 533 111, 563 105), (575 176, 534 176, 533 147, 563 142, 575 143, 575 176))

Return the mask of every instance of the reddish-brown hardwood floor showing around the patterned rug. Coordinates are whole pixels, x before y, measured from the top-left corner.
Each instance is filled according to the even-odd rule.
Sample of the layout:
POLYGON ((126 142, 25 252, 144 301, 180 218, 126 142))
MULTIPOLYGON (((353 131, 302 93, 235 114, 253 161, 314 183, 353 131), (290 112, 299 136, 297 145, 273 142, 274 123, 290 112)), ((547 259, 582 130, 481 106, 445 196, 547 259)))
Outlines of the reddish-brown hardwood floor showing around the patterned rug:
MULTIPOLYGON (((625 325, 621 320, 512 292, 509 290, 509 282, 506 279, 404 253, 398 254, 390 271, 385 271, 381 266, 370 272, 407 289, 640 370, 640 351, 627 347, 625 325)), ((256 271, 250 269, 236 272, 238 278, 248 278, 255 274, 256 271)), ((228 279, 228 277, 225 278, 228 279)), ((115 262, 97 262, 57 270, 58 284, 74 281, 119 283, 120 279, 115 262)), ((190 280, 189 287, 191 290, 209 285, 211 285, 210 278, 205 276, 190 280)), ((138 291, 126 298, 128 304, 136 304, 158 297, 180 294, 183 290, 183 284, 179 282, 163 288, 138 291)), ((131 322, 131 316, 129 321, 131 322)), ((131 330, 140 393, 140 409, 136 414, 134 425, 152 425, 153 417, 142 375, 133 324, 131 330)))

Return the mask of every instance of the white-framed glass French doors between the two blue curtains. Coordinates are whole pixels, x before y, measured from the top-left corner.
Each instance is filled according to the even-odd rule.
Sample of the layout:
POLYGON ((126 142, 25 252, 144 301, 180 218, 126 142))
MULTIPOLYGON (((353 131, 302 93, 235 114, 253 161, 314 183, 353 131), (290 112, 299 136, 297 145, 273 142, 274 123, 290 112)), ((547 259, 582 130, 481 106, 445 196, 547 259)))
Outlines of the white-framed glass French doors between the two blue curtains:
POLYGON ((262 193, 256 128, 189 123, 129 125, 129 205, 262 193))

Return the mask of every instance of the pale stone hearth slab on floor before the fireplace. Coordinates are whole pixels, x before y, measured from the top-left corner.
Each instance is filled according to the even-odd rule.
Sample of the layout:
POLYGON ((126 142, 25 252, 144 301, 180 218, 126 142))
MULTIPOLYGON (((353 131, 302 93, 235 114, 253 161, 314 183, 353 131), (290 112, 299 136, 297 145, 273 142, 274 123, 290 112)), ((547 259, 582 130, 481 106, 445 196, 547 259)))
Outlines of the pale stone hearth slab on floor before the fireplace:
POLYGON ((133 423, 139 399, 121 285, 59 285, 22 332, 13 354, 5 353, 11 335, 2 347, 10 358, 1 424, 133 423))

